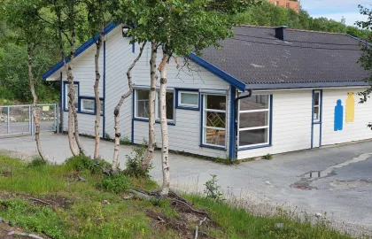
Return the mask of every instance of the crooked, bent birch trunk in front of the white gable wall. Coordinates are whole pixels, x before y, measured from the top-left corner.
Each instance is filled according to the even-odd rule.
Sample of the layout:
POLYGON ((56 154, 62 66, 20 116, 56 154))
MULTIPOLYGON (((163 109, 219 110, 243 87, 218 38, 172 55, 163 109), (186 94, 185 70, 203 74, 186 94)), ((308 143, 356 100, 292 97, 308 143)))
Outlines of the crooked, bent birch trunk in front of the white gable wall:
POLYGON ((112 159, 112 173, 116 173, 119 168, 119 145, 120 145, 120 107, 124 103, 124 100, 128 98, 133 92, 133 84, 132 84, 132 69, 136 66, 137 61, 139 58, 141 58, 144 46, 146 45, 146 42, 143 42, 140 52, 138 53, 138 56, 133 61, 132 65, 129 66, 128 72, 127 72, 127 78, 128 78, 128 92, 125 93, 120 97, 119 103, 116 105, 115 109, 113 110, 113 117, 114 117, 114 129, 115 129, 115 146, 113 149, 113 159, 112 159))

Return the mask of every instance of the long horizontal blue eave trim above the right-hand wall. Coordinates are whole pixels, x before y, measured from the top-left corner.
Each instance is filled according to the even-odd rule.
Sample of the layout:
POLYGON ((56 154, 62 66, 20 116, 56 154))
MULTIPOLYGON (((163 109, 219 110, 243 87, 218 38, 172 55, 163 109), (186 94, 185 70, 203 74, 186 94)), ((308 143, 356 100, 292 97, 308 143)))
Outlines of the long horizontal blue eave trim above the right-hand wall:
POLYGON ((365 81, 309 82, 309 83, 257 83, 247 84, 246 89, 304 89, 331 87, 363 87, 369 86, 365 81))

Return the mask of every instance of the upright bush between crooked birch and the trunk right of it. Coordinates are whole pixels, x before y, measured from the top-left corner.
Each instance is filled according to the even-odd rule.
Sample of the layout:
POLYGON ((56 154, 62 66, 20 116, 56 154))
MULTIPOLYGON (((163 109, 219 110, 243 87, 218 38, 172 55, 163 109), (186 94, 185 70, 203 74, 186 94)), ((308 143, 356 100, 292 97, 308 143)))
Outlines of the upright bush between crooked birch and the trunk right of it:
POLYGON ((146 169, 146 172, 142 173, 140 171, 140 166, 142 165, 145 157, 146 157, 145 143, 133 147, 132 153, 130 155, 127 155, 127 162, 125 164, 126 169, 124 170, 124 173, 128 176, 150 178, 149 172, 152 168, 151 165, 146 169))

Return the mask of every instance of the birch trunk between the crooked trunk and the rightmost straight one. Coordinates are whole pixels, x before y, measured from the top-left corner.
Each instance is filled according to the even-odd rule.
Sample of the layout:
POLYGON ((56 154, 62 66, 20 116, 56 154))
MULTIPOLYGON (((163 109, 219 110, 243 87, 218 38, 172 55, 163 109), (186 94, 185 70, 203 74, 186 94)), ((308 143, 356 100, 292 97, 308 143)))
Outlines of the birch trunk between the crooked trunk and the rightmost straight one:
POLYGON ((158 75, 156 74, 156 56, 158 52, 158 43, 155 41, 151 42, 151 58, 150 58, 150 79, 151 89, 149 91, 149 145, 147 147, 146 157, 144 158, 142 165, 140 166, 141 173, 145 173, 147 168, 151 164, 153 153, 155 150, 155 95, 156 95, 156 84, 158 75))

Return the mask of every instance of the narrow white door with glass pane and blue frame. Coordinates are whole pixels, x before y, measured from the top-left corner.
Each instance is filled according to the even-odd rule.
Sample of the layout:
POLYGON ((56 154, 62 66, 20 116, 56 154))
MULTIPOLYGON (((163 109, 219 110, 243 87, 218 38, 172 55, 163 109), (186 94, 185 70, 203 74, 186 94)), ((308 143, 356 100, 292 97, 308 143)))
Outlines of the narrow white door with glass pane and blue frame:
POLYGON ((322 146, 322 89, 313 90, 313 119, 312 119, 311 148, 322 146))

